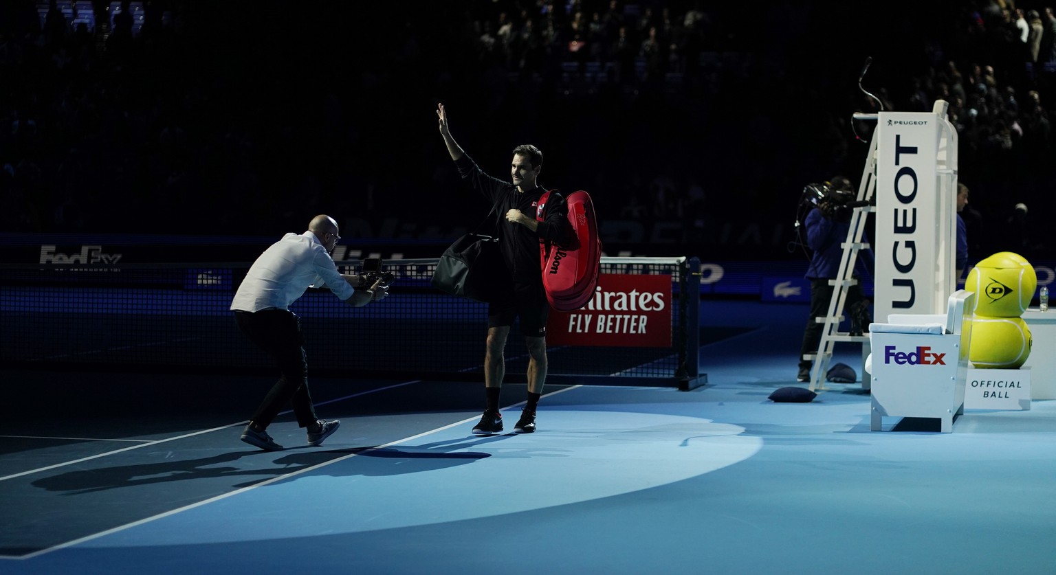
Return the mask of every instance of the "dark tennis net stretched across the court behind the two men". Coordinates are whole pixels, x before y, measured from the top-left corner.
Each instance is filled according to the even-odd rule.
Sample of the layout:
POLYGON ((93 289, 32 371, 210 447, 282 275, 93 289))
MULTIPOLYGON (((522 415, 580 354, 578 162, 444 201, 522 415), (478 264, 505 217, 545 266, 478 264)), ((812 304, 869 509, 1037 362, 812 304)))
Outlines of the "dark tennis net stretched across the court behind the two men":
MULTIPOLYGON (((391 260, 383 302, 354 308, 309 289, 301 319, 313 373, 482 379, 487 305, 432 288, 436 258, 391 260)), ((340 261, 358 272, 359 261, 340 261)), ((231 298, 248 263, 0 266, 0 361, 19 368, 270 371, 234 325, 231 298)), ((548 381, 689 389, 699 372, 699 261, 603 257, 601 272, 663 276, 672 288, 666 346, 550 345, 548 381)), ((661 326, 664 327, 664 326, 661 326)), ((514 325, 507 381, 527 349, 514 325)))

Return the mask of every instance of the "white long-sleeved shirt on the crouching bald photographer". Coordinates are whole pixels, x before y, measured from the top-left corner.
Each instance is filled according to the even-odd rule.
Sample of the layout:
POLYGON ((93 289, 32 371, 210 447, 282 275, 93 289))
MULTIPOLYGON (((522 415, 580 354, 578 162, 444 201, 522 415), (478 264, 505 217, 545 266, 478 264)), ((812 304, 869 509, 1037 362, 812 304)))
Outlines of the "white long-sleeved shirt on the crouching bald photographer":
POLYGON ((341 301, 355 292, 316 234, 287 233, 253 262, 234 293, 231 309, 289 309, 309 287, 326 287, 341 301))

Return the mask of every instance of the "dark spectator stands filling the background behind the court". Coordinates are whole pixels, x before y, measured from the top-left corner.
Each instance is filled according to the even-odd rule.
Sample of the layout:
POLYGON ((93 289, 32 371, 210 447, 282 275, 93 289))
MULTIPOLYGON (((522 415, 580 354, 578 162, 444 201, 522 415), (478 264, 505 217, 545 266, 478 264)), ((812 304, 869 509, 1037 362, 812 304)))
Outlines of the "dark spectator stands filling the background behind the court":
POLYGON ((487 206, 445 153, 442 101, 496 176, 535 143, 543 185, 591 191, 600 218, 769 258, 807 184, 861 177, 853 112, 944 99, 972 255, 1051 256, 1043 3, 96 1, 91 25, 48 4, 0 8, 2 231, 274 235, 326 212, 453 237, 487 206))

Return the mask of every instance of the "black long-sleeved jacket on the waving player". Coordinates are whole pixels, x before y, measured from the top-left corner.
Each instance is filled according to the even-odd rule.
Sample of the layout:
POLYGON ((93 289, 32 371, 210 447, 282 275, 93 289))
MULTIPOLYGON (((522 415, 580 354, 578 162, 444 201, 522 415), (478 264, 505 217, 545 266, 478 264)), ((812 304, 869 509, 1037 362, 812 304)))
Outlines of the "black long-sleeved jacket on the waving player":
POLYGON ((516 208, 528 217, 535 217, 539 198, 546 192, 542 186, 529 192, 517 192, 516 186, 503 181, 486 173, 468 155, 455 161, 458 173, 469 178, 473 189, 482 193, 489 204, 498 202, 498 245, 503 251, 506 268, 517 284, 543 285, 543 268, 540 263, 539 238, 564 244, 568 241, 568 206, 557 190, 550 193, 546 203, 546 218, 539 223, 538 232, 527 226, 506 221, 506 212, 516 208))

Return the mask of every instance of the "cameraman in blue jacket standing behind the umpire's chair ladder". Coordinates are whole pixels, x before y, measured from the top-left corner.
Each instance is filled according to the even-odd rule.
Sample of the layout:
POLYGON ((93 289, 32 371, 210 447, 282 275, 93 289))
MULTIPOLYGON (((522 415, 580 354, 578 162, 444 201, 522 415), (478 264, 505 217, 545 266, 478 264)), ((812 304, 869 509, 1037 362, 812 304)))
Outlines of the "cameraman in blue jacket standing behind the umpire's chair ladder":
MULTIPOLYGON (((829 313, 829 302, 834 290, 829 281, 837 279, 840 273, 840 261, 844 254, 842 244, 847 239, 853 213, 853 208, 847 206, 847 203, 852 199, 854 191, 850 180, 843 176, 833 177, 831 183, 823 187, 821 197, 816 198, 816 206, 810 210, 804 222, 807 247, 813 253, 806 274, 807 280, 810 280, 810 315, 807 318, 807 327, 804 329, 803 345, 799 349, 799 371, 796 375, 798 382, 810 381, 813 361, 806 359, 806 356, 816 354, 817 347, 822 343, 825 324, 818 323, 817 319, 824 320, 829 313)), ((863 236, 863 241, 867 239, 863 236)), ((871 261, 871 252, 868 253, 871 261)), ((866 265, 860 258, 855 263, 855 272, 868 273, 869 270, 865 268, 866 265)), ((859 280, 860 275, 855 273, 853 279, 859 280)), ((857 283, 847 288, 844 309, 851 320, 850 334, 863 334, 872 320, 869 314, 869 302, 863 296, 862 287, 857 283)))

